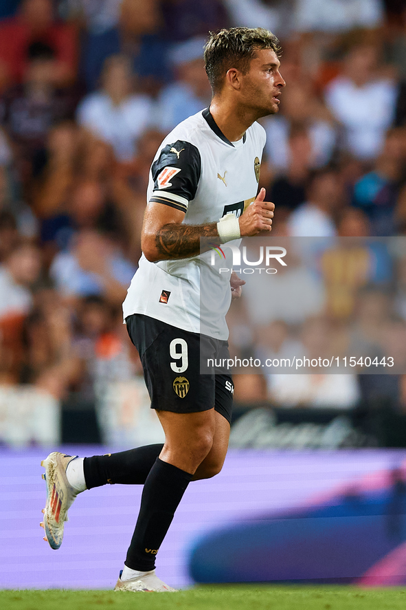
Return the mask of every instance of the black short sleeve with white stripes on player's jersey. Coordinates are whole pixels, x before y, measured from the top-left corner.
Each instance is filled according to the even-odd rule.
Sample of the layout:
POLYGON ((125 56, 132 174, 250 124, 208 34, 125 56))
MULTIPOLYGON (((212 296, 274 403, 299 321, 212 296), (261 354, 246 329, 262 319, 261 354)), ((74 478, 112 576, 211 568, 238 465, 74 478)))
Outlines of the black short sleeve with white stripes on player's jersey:
POLYGON ((194 144, 183 140, 166 144, 153 162, 151 173, 154 188, 150 201, 186 212, 199 186, 199 150, 194 144))

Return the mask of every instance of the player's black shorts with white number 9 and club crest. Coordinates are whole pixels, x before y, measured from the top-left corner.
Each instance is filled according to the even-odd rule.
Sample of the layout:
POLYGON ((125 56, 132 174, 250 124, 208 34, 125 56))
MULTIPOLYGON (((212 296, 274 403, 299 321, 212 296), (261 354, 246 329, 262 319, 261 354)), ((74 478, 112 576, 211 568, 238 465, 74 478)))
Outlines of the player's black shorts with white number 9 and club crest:
POLYGON ((142 314, 128 316, 126 326, 141 358, 151 409, 196 413, 214 407, 231 424, 232 376, 200 372, 201 341, 209 351, 218 351, 221 344, 225 358, 227 341, 218 342, 142 314))

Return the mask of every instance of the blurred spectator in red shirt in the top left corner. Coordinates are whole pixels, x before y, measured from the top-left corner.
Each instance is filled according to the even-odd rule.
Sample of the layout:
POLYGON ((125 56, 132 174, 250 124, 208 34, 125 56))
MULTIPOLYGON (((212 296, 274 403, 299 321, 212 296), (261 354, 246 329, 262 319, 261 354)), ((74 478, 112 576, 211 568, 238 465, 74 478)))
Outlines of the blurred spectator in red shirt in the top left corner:
POLYGON ((21 83, 27 69, 27 50, 32 43, 50 47, 56 61, 50 74, 54 86, 76 78, 76 34, 68 23, 54 19, 52 0, 23 0, 14 17, 0 22, 0 65, 8 82, 21 83))

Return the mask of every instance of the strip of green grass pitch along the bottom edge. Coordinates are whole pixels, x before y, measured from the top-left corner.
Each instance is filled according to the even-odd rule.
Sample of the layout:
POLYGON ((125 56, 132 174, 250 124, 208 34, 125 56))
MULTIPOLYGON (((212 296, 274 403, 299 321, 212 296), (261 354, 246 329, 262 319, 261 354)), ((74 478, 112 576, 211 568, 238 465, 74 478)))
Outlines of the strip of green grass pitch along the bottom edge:
POLYGON ((405 610, 406 589, 196 587, 177 593, 120 591, 0 591, 5 610, 405 610))

